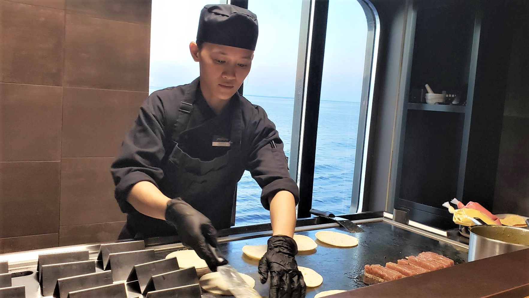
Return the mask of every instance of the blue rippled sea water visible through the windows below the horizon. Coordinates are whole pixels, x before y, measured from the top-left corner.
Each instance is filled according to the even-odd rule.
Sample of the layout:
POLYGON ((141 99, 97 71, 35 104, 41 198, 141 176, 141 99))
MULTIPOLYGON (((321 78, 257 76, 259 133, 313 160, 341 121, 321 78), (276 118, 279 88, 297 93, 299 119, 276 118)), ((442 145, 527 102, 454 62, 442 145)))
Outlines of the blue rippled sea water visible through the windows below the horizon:
MULTIPOLYGON (((276 124, 290 156, 294 110, 293 98, 245 97, 265 109, 276 124)), ((357 145, 360 103, 321 101, 316 143, 313 203, 315 209, 335 214, 349 212, 357 145)), ((261 188, 245 171, 238 184, 235 225, 270 221, 270 213, 260 202, 261 188)))

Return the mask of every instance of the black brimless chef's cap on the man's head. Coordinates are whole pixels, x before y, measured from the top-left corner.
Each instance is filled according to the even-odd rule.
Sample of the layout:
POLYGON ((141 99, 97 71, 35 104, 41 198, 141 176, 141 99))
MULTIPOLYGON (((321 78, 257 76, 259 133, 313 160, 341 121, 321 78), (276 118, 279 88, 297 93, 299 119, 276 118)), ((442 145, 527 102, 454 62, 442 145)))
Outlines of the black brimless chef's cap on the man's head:
POLYGON ((198 21, 197 40, 255 50, 259 33, 257 16, 230 4, 204 6, 198 21))

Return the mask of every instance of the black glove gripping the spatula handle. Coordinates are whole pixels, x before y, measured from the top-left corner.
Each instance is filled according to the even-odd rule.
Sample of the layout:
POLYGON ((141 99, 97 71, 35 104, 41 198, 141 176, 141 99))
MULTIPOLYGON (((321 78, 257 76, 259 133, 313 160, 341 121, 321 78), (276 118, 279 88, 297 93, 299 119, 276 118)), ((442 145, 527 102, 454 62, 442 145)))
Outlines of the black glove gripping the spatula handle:
POLYGON ((166 221, 178 231, 178 237, 185 246, 194 249, 197 255, 206 261, 212 271, 217 266, 227 264, 217 247, 217 230, 204 214, 198 212, 181 198, 177 197, 167 203, 166 221), (219 261, 213 254, 223 258, 219 261))

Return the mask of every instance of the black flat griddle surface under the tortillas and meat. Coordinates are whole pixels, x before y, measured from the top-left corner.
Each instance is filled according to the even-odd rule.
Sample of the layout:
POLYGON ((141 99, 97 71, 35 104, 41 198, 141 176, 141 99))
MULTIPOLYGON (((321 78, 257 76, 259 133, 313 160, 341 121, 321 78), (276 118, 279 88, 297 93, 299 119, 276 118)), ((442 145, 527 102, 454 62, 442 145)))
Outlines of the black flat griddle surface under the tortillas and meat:
MULTIPOLYGON (((323 276, 323 284, 315 288, 307 288, 307 298, 316 293, 329 290, 352 290, 367 286, 363 283, 363 267, 366 264, 385 265, 406 256, 418 255, 423 251, 433 251, 454 260, 455 264, 467 261, 468 250, 416 234, 396 227, 387 222, 360 224, 365 230, 361 233, 349 233, 343 228, 330 228, 296 234, 305 235, 316 240, 316 232, 328 230, 350 234, 358 238, 359 245, 352 248, 338 248, 316 240, 318 247, 313 251, 300 252, 296 256, 299 266, 314 269, 323 276)), ((257 273, 258 260, 245 256, 242 247, 245 245, 266 244, 269 237, 259 237, 220 243, 220 249, 240 273, 248 274, 256 280, 256 290, 262 296, 268 296, 268 283, 261 285, 257 273)), ((158 251, 157 256, 164 258, 174 250, 158 251)), ((200 271, 200 270, 198 270, 200 271)), ((203 295, 204 296, 204 295, 203 295)), ((207 294, 207 296, 226 297, 207 294)))

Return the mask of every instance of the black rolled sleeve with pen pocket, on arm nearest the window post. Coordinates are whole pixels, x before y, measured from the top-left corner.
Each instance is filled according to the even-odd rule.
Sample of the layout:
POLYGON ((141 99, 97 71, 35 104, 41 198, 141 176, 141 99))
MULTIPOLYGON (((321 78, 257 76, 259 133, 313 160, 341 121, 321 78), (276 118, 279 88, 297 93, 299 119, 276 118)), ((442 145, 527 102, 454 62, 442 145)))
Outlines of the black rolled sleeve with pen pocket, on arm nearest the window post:
POLYGON ((256 106, 250 126, 250 150, 246 169, 262 188, 261 204, 270 210, 269 198, 279 191, 288 191, 299 202, 299 188, 288 172, 288 162, 275 124, 268 119, 266 112, 256 106), (272 148, 271 142, 275 143, 272 148))

